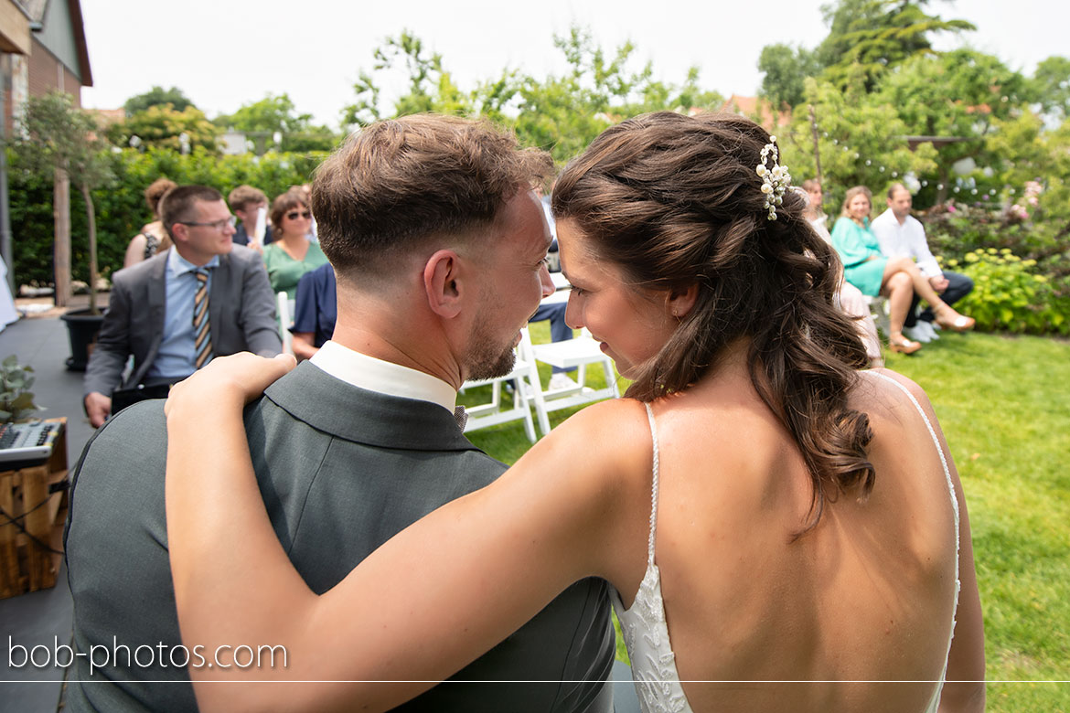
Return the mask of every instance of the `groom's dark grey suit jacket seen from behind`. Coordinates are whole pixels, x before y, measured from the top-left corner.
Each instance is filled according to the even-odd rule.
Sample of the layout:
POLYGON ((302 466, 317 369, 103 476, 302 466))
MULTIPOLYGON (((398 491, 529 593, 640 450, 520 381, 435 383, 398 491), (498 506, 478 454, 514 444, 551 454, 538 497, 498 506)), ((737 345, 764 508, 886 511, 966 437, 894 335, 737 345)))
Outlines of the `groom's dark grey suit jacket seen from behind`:
MULTIPOLYGON (((116 646, 133 653, 141 645, 180 644, 164 515, 162 404, 135 404, 106 423, 75 474, 64 538, 75 644, 80 652, 97 651, 97 664, 116 646)), ((473 446, 441 406, 360 389, 310 363, 250 404, 245 427, 275 532, 317 592, 398 530, 505 468, 473 446)), ((89 657, 80 657, 71 679, 93 682, 73 683, 67 707, 195 711, 185 669, 169 661, 159 666, 156 650, 156 665, 141 667, 125 665, 119 649, 121 665, 112 660, 92 676, 89 657), (160 680, 182 683, 147 683, 160 680)), ((141 661, 147 655, 142 651, 141 661)), ((602 682, 612 664, 606 585, 586 579, 454 677, 553 683, 449 682, 401 710, 608 712, 602 682)))

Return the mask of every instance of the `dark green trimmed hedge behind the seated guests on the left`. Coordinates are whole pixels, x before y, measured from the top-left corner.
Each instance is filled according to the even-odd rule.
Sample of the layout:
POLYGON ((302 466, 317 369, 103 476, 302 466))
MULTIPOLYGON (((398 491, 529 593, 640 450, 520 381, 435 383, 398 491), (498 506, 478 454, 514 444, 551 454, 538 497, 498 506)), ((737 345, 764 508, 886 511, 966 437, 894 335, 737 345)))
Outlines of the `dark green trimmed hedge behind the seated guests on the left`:
MULTIPOLYGON (((144 202, 144 189, 160 176, 178 184, 202 184, 216 188, 224 198, 235 186, 260 188, 269 201, 293 185, 308 183, 312 171, 327 156, 266 154, 264 156, 214 156, 202 150, 183 156, 173 151, 133 149, 116 151, 111 159, 118 176, 114 184, 93 191, 96 207, 97 258, 101 275, 109 277, 123 266, 126 246, 153 217, 144 202)), ((22 170, 9 152, 9 192, 12 248, 16 284, 49 284, 52 276, 52 184, 22 170)), ((71 191, 71 264, 75 280, 89 280, 86 206, 78 191, 71 191)))

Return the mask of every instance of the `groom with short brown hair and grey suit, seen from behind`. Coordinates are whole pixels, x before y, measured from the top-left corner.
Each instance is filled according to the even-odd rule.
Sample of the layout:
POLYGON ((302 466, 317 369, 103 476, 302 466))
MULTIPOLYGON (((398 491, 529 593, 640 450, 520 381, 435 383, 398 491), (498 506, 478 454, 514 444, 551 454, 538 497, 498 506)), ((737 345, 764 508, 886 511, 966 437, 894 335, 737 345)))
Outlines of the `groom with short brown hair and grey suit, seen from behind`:
MULTIPOLYGON (((487 124, 430 115, 369 126, 320 168, 311 207, 337 273, 334 338, 245 412, 275 532, 315 591, 505 469, 462 435, 454 406, 465 379, 508 373, 520 328, 553 291, 550 233, 528 189, 549 169, 545 153, 487 124)), ((75 475, 65 544, 87 655, 71 676, 74 711, 195 710, 168 563, 165 450, 163 404, 144 402, 96 434, 75 475)), ((572 585, 400 710, 612 710, 605 588, 572 585)))

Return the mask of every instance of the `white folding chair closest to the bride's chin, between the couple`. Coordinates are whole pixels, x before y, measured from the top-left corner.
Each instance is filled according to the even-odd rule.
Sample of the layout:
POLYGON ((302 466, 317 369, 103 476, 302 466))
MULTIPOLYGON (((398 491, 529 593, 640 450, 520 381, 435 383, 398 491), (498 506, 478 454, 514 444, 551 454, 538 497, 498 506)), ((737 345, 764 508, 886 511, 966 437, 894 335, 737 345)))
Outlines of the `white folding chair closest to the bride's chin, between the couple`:
POLYGON ((603 399, 617 399, 621 396, 621 390, 616 386, 616 372, 613 371, 612 359, 602 353, 598 342, 591 337, 591 332, 585 328, 575 339, 550 344, 533 344, 532 354, 536 361, 548 363, 551 367, 577 368, 576 386, 535 393, 535 407, 542 435, 550 433, 550 419, 547 417, 547 413, 603 399), (602 368, 606 375, 603 388, 595 389, 586 385, 587 365, 602 368))

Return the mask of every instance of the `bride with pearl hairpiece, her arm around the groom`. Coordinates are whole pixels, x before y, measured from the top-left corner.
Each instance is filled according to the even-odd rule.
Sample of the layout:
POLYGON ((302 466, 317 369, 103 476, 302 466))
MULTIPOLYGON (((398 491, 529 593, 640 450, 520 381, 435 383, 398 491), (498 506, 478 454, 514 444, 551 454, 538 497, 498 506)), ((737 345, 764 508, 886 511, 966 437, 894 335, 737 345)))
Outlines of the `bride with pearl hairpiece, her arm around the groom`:
POLYGON ((202 710, 387 709, 590 575, 618 593, 644 710, 982 710, 947 444, 917 385, 856 371, 838 263, 789 182, 775 139, 734 115, 649 114, 598 137, 553 211, 567 321, 633 381, 626 398, 572 416, 322 595, 275 538, 241 420, 292 361, 216 359, 177 387, 183 640, 288 654, 192 670, 202 710), (214 684, 270 680, 328 683, 214 684))

